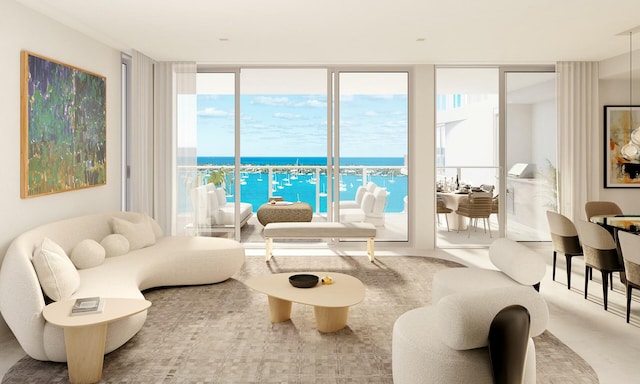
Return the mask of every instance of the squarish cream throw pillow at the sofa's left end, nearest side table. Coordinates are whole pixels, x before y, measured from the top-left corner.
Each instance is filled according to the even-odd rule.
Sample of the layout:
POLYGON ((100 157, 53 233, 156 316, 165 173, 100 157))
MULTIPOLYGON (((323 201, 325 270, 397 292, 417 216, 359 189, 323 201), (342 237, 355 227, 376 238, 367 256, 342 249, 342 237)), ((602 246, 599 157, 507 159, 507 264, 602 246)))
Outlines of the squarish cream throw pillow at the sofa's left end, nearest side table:
POLYGON ((33 268, 40 286, 51 300, 69 298, 80 287, 80 275, 62 247, 49 238, 33 254, 33 268))

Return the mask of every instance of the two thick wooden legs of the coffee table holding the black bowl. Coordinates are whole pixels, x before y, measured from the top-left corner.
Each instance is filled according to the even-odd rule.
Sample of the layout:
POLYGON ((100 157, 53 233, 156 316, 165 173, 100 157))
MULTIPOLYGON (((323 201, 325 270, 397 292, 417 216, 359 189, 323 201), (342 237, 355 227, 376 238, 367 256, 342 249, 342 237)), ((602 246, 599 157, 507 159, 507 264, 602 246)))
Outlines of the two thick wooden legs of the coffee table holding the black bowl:
MULTIPOLYGON (((269 317, 272 323, 281 323, 291 319, 291 301, 268 296, 269 317)), ((314 306, 316 328, 322 333, 331 333, 347 326, 349 307, 314 306)))

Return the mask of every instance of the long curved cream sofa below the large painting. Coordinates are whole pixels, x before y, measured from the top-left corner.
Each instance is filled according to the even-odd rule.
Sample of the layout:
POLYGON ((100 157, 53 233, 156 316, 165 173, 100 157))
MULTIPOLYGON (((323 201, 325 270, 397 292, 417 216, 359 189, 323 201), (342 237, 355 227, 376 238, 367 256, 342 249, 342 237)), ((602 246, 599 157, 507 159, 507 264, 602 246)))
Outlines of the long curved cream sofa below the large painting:
MULTIPOLYGON (((234 240, 215 237, 163 237, 155 220, 141 213, 93 214, 29 230, 14 239, 0 267, 0 312, 24 351, 34 359, 43 361, 66 361, 62 328, 47 323, 42 316, 42 310, 51 298, 43 293, 44 285, 41 286, 39 280, 39 276, 43 276, 42 269, 39 268, 37 272, 32 262, 36 253, 39 254, 37 257, 45 253, 40 252, 45 238, 58 244, 69 255, 70 260, 78 259, 79 252, 74 252, 74 249, 79 248, 80 242, 92 242, 87 239, 102 242, 105 244, 104 249, 108 248, 104 261, 96 266, 77 270, 77 287, 74 286, 75 272, 67 270, 68 275, 73 276, 69 279, 68 275, 60 274, 62 277, 59 279, 67 279, 68 284, 60 285, 61 291, 66 290, 66 294, 59 299, 91 296, 143 298, 141 291, 148 288, 218 283, 237 273, 245 261, 244 248, 234 240), (123 232, 122 223, 126 223, 125 229, 144 228, 150 237, 147 236, 147 244, 142 244, 146 245, 142 248, 110 256, 114 252, 112 247, 107 247, 107 236, 121 240, 119 236, 122 234, 131 239, 130 246, 141 245, 135 238, 139 233, 135 230, 123 232), (128 226, 129 224, 132 226, 128 226), (120 227, 116 228, 117 225, 120 227), (113 235, 114 231, 120 234, 113 235)), ((126 242, 122 241, 120 244, 123 243, 126 242)), ((127 247, 129 248, 134 247, 127 247)), ((91 263, 96 264, 95 260, 91 263)), ((71 266, 75 268, 73 264, 71 266)), ((45 291, 51 292, 51 288, 47 287, 45 291)), ((146 316, 146 311, 143 311, 110 323, 105 353, 117 349, 133 337, 144 325, 146 316)))

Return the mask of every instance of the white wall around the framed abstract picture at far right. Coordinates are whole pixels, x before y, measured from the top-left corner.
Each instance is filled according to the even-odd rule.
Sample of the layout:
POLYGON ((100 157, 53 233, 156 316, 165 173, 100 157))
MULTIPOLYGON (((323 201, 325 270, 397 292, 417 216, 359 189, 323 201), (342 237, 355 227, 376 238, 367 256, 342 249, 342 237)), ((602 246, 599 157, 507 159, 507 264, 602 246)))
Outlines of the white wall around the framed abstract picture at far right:
MULTIPOLYGON (((605 105, 629 105, 628 80, 600 80, 600 116, 603 116, 605 105)), ((640 81, 633 84, 633 105, 640 105, 640 81)), ((598 156, 599 199, 615 201, 624 212, 640 212, 640 189, 638 188, 604 188, 604 117, 600 119, 597 148, 593 148, 598 156)))

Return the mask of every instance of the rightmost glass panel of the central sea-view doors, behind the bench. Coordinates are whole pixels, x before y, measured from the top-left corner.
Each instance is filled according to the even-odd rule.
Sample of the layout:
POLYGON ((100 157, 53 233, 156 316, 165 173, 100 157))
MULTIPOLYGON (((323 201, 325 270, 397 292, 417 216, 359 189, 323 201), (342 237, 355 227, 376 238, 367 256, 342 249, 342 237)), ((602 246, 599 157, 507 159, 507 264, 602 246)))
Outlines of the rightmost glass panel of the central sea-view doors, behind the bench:
POLYGON ((373 223, 384 241, 408 240, 408 84, 407 72, 336 77, 335 218, 373 223))

